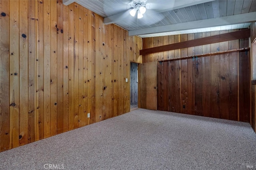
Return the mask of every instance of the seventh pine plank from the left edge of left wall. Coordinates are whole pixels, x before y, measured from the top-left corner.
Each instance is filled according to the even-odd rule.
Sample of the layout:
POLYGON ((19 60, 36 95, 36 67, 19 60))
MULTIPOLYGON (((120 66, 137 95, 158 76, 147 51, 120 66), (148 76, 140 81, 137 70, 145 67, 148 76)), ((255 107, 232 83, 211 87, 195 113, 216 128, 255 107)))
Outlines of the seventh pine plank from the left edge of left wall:
POLYGON ((57 134, 57 3, 51 1, 51 136, 57 134))

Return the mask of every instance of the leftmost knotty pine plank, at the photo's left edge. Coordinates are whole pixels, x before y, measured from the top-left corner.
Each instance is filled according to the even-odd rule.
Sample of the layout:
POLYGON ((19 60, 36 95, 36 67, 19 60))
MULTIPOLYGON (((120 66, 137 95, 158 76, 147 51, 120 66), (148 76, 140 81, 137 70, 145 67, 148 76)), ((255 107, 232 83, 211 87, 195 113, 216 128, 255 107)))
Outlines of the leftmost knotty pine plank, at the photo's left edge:
POLYGON ((0 1, 0 152, 10 149, 10 3, 0 1))

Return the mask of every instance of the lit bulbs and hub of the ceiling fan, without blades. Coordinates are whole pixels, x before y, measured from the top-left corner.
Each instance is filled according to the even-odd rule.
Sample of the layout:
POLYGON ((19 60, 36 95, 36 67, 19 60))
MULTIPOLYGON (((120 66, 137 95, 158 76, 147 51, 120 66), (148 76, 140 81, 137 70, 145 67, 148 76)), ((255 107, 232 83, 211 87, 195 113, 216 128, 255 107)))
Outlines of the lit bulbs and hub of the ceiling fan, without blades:
POLYGON ((134 17, 137 14, 138 19, 143 17, 146 9, 150 9, 150 3, 148 3, 148 0, 132 0, 128 5, 132 8, 130 10, 130 15, 134 17))

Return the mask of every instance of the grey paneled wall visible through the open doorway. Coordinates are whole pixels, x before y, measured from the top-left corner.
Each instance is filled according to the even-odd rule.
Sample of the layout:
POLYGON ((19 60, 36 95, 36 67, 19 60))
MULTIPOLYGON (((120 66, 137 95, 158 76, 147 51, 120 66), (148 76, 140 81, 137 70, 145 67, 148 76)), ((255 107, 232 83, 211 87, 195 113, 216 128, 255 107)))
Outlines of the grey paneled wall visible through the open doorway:
POLYGON ((138 102, 138 64, 130 65, 130 103, 138 102))

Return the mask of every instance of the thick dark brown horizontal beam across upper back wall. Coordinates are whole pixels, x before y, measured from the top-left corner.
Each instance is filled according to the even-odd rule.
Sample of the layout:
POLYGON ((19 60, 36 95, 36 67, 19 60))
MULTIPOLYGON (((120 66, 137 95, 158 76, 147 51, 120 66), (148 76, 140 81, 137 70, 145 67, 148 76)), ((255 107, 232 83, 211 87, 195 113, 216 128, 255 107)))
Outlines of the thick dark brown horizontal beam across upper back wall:
POLYGON ((219 43, 224 41, 232 41, 236 39, 244 39, 250 37, 250 29, 242 29, 239 31, 234 31, 230 33, 224 33, 220 35, 214 35, 210 37, 204 37, 200 39, 193 39, 189 41, 184 41, 180 43, 173 43, 168 45, 162 45, 159 47, 152 47, 148 49, 140 50, 140 55, 147 55, 151 53, 158 53, 163 51, 175 50, 175 49, 182 49, 188 47, 195 47, 199 45, 206 45, 212 43, 219 43))

